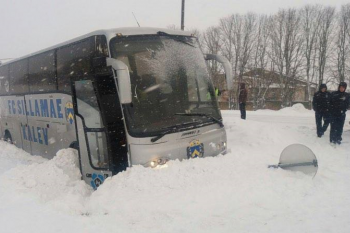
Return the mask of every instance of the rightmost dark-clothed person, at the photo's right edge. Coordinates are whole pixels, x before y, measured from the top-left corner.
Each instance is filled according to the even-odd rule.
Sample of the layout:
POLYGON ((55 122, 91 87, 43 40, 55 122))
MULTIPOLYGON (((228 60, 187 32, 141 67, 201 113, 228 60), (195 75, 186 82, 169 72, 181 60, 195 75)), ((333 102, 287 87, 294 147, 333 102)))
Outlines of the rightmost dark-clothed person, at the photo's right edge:
POLYGON ((349 108, 349 94, 345 92, 347 84, 341 82, 338 91, 331 94, 331 143, 341 144, 346 111, 349 108))

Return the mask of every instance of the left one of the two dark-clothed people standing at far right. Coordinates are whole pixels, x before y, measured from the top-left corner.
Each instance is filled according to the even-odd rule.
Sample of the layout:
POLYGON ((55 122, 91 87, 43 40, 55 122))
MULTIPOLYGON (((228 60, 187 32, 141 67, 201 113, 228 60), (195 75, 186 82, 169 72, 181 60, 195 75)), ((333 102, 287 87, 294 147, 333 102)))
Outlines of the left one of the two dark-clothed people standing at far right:
POLYGON ((320 138, 326 132, 330 123, 330 93, 326 84, 321 84, 318 92, 314 94, 312 107, 315 111, 317 136, 320 138), (322 119, 324 121, 322 125, 322 119))

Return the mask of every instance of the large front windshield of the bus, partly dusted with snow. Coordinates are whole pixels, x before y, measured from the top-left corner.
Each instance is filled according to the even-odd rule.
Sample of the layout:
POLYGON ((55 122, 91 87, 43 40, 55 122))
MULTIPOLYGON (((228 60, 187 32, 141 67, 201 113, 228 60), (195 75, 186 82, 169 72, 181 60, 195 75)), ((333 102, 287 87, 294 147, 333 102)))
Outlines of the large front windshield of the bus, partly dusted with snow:
POLYGON ((215 124, 212 118, 221 119, 195 38, 114 38, 111 51, 113 58, 123 61, 130 71, 133 97, 125 111, 131 135, 152 136, 172 126, 215 124))

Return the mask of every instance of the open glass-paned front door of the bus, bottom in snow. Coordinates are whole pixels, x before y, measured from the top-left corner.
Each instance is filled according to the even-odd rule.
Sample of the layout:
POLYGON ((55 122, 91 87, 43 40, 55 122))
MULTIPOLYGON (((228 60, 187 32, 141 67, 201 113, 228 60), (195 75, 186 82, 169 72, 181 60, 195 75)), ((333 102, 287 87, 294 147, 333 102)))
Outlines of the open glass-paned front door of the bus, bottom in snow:
POLYGON ((73 80, 73 102, 83 179, 97 189, 112 175, 104 127, 93 80, 73 80))

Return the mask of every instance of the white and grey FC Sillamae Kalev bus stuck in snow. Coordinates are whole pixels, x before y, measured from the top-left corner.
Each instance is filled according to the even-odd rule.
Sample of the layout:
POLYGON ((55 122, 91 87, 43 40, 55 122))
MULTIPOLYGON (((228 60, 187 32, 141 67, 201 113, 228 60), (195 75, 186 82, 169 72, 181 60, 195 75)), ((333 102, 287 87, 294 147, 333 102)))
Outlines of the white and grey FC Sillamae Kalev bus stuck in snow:
POLYGON ((100 30, 0 66, 0 136, 32 155, 79 152, 93 188, 133 165, 226 152, 206 60, 189 32, 100 30))

